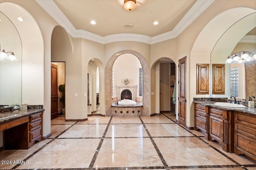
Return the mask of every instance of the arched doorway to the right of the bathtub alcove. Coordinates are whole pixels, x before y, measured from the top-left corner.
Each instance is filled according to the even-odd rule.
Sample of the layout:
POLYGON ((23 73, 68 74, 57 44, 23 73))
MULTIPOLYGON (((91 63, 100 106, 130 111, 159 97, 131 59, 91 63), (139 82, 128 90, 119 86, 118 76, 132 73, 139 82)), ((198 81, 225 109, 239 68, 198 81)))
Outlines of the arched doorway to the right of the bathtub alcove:
POLYGON ((154 92, 150 101, 151 114, 176 114, 176 64, 166 57, 155 61, 151 67, 151 91, 154 92), (174 98, 175 96, 175 98, 174 98))

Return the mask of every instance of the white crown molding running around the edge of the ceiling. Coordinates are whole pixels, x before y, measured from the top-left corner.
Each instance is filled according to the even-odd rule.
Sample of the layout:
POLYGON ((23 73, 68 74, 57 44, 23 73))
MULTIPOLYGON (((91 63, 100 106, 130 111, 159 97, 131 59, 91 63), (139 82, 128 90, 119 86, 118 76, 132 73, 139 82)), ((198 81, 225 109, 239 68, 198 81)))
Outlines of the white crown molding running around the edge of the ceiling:
POLYGON ((85 30, 76 29, 53 0, 36 0, 36 2, 74 38, 84 38, 101 44, 112 43, 116 41, 137 41, 147 44, 154 44, 178 37, 178 35, 180 35, 180 33, 182 33, 186 27, 188 27, 194 20, 196 20, 196 18, 200 16, 200 14, 202 14, 202 12, 204 12, 204 10, 206 10, 206 8, 208 8, 208 6, 210 6, 214 0, 196 1, 192 8, 190 8, 190 10, 172 31, 162 33, 154 37, 130 33, 113 34, 102 37, 85 30))

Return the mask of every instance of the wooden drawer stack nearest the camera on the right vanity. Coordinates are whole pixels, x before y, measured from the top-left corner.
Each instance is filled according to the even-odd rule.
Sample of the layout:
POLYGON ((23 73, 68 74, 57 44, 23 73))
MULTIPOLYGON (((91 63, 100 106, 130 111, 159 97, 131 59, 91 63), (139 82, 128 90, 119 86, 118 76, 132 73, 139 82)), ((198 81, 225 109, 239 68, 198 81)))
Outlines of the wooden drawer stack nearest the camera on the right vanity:
POLYGON ((256 115, 234 112, 234 153, 256 162, 256 115))

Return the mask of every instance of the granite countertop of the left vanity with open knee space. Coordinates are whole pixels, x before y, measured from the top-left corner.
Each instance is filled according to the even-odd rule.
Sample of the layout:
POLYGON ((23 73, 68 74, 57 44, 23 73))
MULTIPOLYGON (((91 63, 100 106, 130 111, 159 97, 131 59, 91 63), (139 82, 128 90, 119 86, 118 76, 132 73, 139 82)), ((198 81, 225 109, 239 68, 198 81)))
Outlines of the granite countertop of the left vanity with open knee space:
POLYGON ((27 111, 9 111, 0 113, 0 125, 44 110, 45 109, 28 109, 27 111))

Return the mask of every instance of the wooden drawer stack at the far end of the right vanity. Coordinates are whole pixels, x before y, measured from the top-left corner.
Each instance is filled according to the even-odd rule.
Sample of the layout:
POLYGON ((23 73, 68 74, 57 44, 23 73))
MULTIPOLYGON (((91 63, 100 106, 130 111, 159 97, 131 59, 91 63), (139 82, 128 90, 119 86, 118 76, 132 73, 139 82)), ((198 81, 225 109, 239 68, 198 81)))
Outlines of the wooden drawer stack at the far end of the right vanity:
POLYGON ((195 109, 195 116, 194 116, 194 129, 200 130, 202 133, 204 133, 205 139, 209 140, 209 107, 203 106, 202 104, 195 103, 194 104, 195 109))

